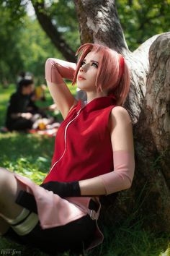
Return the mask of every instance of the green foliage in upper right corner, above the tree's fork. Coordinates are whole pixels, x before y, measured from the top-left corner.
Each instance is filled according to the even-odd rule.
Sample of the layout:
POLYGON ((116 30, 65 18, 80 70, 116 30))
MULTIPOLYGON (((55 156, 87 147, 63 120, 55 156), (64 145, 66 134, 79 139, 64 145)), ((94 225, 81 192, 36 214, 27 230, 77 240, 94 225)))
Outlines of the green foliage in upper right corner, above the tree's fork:
POLYGON ((169 31, 169 0, 117 0, 117 12, 130 50, 169 31))

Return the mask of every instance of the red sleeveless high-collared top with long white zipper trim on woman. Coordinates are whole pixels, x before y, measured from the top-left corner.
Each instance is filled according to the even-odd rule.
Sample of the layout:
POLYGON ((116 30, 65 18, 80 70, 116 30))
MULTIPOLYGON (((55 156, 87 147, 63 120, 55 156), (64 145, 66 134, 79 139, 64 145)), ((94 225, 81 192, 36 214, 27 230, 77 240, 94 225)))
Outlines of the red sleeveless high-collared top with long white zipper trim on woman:
POLYGON ((55 151, 45 182, 73 182, 113 170, 108 119, 114 97, 96 98, 86 106, 81 101, 58 129, 55 151))

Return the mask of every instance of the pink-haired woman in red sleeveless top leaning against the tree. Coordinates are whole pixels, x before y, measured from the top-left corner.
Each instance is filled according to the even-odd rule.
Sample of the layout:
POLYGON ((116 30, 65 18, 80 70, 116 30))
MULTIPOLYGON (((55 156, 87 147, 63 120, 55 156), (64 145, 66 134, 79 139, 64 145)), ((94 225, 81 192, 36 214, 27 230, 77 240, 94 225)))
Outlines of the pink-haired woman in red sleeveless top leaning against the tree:
POLYGON ((48 88, 64 121, 43 184, 0 171, 1 234, 10 226, 6 235, 51 253, 102 242, 99 197, 130 188, 134 173, 132 125, 122 107, 130 86, 127 64, 97 44, 86 43, 77 54, 77 65, 46 61, 48 88), (85 106, 63 78, 86 91, 85 106))

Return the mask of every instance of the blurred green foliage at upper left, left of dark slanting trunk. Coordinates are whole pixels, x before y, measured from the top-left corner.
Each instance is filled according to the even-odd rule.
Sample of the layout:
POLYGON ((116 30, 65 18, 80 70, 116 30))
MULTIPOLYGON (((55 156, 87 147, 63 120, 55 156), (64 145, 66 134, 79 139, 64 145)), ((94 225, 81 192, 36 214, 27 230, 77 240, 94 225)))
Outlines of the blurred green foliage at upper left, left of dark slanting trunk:
POLYGON ((24 70, 43 83, 45 60, 55 56, 60 59, 62 55, 52 46, 37 20, 23 14, 13 23, 11 12, 1 6, 0 81, 16 82, 17 75, 24 70))

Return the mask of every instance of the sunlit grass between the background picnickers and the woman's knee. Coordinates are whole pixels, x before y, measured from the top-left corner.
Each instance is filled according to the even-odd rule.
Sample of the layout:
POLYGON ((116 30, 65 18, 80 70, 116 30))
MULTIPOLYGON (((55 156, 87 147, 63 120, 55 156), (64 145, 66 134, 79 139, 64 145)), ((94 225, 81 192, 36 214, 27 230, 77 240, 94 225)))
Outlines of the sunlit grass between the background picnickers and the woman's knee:
POLYGON ((50 168, 54 138, 12 132, 0 135, 0 140, 0 166, 42 183, 50 168))

